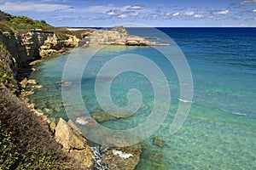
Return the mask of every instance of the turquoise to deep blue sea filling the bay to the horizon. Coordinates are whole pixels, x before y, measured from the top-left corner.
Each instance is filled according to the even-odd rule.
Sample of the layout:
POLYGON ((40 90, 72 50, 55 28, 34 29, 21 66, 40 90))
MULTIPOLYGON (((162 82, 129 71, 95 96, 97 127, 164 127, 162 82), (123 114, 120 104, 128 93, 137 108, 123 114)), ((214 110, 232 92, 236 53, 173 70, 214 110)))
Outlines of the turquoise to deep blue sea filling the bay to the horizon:
POLYGON ((95 111, 130 111, 99 122, 102 127, 124 131, 148 123, 159 99, 156 96, 169 97, 170 93, 168 101, 160 102, 168 106, 167 111, 151 119, 153 132, 147 133, 152 130, 150 125, 143 129, 147 138, 139 141, 143 152, 137 170, 256 169, 256 28, 134 27, 127 31, 158 37, 149 41, 169 45, 89 46, 44 59, 29 77, 38 82, 36 87, 27 87, 34 88, 31 102, 49 122, 59 117, 76 122, 77 117, 95 111), (170 62, 168 57, 182 57, 183 63, 170 62), (182 85, 184 69, 192 78, 189 99, 181 89, 186 87, 182 85), (73 93, 77 87, 79 93, 73 93), (69 101, 63 99, 63 92, 69 101), (104 103, 97 96, 111 102, 104 103), (82 99, 83 105, 76 99, 82 99), (189 110, 181 113, 185 116, 180 116, 183 120, 177 132, 170 133, 183 103, 190 105, 189 110), (132 105, 137 108, 131 111, 132 105))

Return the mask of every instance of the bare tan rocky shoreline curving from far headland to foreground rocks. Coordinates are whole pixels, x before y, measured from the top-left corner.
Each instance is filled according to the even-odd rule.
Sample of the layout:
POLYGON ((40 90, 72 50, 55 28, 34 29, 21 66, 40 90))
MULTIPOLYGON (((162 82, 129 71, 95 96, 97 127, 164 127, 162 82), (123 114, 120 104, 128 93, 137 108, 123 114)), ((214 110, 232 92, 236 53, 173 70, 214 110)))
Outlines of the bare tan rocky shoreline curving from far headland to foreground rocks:
MULTIPOLYGON (((62 150, 75 158, 81 167, 98 169, 135 169, 139 161, 142 149, 138 146, 125 148, 104 148, 96 150, 88 144, 79 129, 73 122, 65 122, 60 119, 59 122, 48 124, 47 117, 40 111, 35 110, 35 105, 29 102, 26 96, 33 94, 33 91, 26 91, 26 85, 32 84, 34 88, 37 82, 27 80, 27 77, 35 69, 41 59, 67 52, 71 48, 79 46, 88 47, 90 45, 134 45, 134 46, 151 46, 166 45, 158 42, 150 42, 145 37, 132 36, 127 33, 123 26, 114 27, 110 31, 66 28, 69 34, 65 34, 65 39, 61 39, 55 31, 31 30, 24 34, 14 32, 0 31, 0 42, 8 49, 11 55, 11 64, 9 65, 14 72, 14 77, 19 81, 20 90, 18 96, 26 102, 31 112, 42 120, 44 129, 49 131, 52 137, 61 144, 62 150), (75 33, 76 32, 76 35, 75 33), (99 156, 100 154, 100 156, 99 156), (126 157, 122 157, 122 156, 126 157), (97 157, 97 158, 96 158, 97 157)), ((149 39, 149 38, 148 38, 149 39)), ((154 38, 155 39, 155 38, 154 38)), ((71 167, 71 169, 73 169, 71 167)))

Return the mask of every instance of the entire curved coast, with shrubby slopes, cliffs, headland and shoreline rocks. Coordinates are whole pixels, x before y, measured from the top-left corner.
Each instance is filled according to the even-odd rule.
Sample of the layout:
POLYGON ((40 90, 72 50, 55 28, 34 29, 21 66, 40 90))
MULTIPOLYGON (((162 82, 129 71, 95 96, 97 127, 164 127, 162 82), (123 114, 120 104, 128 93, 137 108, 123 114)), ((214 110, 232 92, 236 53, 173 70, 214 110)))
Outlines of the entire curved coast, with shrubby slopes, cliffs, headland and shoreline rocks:
MULTIPOLYGON (((154 38, 156 39, 156 38, 154 38)), ((13 16, 0 11, 0 169, 134 169, 142 152, 138 146, 96 148, 84 139, 73 122, 47 122, 34 109, 26 92, 27 77, 45 57, 65 53, 70 48, 90 45, 166 45, 145 37, 129 35, 123 26, 110 31, 55 28, 45 21, 13 16), (9 154, 8 154, 9 153, 9 154), (41 161, 37 161, 41 160, 41 161), (43 161, 42 161, 43 160, 43 161)), ((39 87, 38 87, 39 88, 39 87)), ((104 114, 103 114, 104 116, 104 114)))

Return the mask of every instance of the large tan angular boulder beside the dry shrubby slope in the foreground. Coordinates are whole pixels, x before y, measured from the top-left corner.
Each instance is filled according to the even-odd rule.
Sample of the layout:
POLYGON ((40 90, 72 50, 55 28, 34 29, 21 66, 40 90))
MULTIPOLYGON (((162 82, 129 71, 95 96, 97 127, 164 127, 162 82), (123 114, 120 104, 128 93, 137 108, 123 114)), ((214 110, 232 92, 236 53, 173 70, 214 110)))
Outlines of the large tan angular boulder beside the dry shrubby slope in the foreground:
POLYGON ((83 167, 93 167, 94 155, 87 145, 87 140, 79 133, 73 122, 65 122, 60 118, 55 127, 55 139, 63 146, 63 150, 77 159, 83 167))

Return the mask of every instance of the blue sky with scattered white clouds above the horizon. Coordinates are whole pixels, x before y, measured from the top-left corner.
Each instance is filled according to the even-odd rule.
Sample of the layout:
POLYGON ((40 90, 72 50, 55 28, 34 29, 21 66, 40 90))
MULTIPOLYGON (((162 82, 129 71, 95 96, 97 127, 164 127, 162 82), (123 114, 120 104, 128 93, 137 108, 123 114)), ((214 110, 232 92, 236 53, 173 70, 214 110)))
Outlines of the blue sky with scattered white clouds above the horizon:
POLYGON ((0 9, 52 26, 256 27, 256 0, 0 0, 0 9))

